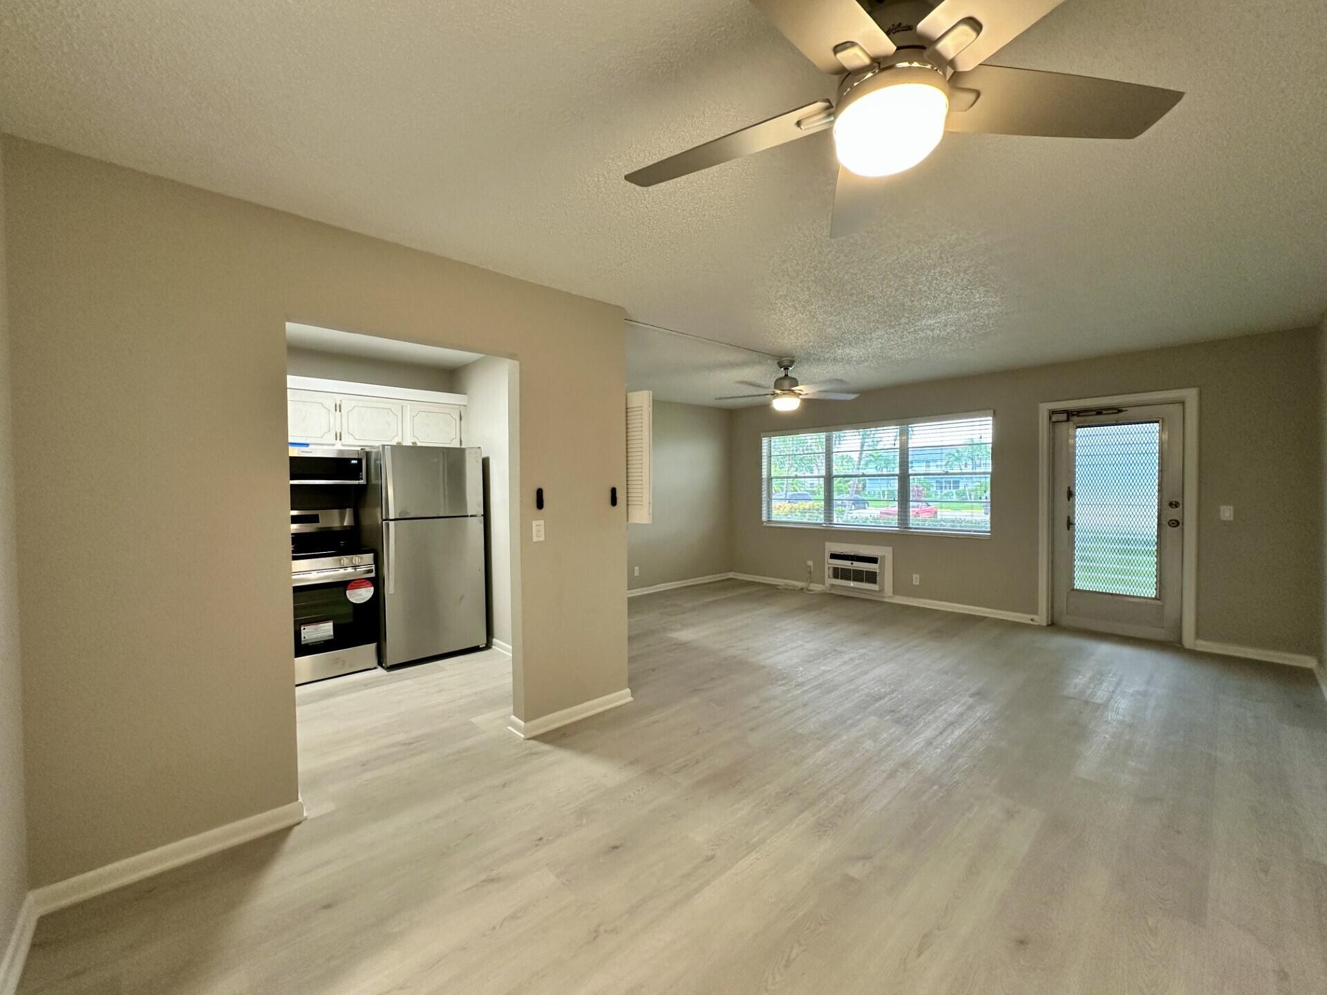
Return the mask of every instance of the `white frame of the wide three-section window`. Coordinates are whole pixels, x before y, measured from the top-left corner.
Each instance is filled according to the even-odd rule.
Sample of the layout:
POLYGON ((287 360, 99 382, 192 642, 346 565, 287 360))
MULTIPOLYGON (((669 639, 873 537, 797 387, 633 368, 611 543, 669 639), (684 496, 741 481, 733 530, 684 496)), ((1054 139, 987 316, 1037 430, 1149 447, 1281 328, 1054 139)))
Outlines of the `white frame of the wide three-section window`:
MULTIPOLYGON (((836 531, 847 532, 897 532, 902 535, 913 536, 946 536, 958 539, 990 539, 994 532, 994 523, 987 523, 985 532, 977 532, 973 529, 946 529, 946 528, 914 528, 912 527, 909 517, 909 505, 912 503, 912 478, 913 476, 986 476, 989 482, 993 480, 995 475, 995 411, 965 411, 961 414, 945 414, 945 415, 925 415, 921 418, 892 418, 884 421, 873 422, 855 422, 851 425, 831 425, 824 427, 809 427, 809 429, 780 429, 775 431, 760 432, 760 524, 770 528, 828 528, 836 531), (974 418, 990 418, 991 422, 991 464, 990 470, 978 471, 943 471, 943 472, 920 472, 913 474, 908 467, 908 448, 909 448, 909 435, 908 429, 922 425, 938 425, 943 422, 961 422, 974 418), (833 472, 833 435, 835 432, 852 431, 852 430, 867 430, 867 429, 898 429, 898 470, 894 474, 835 474, 833 472), (770 452, 770 439, 786 435, 821 435, 824 438, 824 483, 823 483, 823 498, 821 500, 821 521, 774 521, 771 519, 774 504, 774 480, 782 480, 783 476, 775 478, 770 474, 771 467, 771 452, 770 452), (835 496, 833 496, 833 482, 836 476, 871 476, 871 478, 889 478, 892 476, 897 487, 897 503, 898 503, 898 521, 908 521, 909 525, 863 525, 860 523, 836 523, 833 520, 835 496)), ((792 478, 787 478, 792 479, 792 478)), ((800 479, 817 479, 815 476, 800 475, 800 479)), ((987 498, 987 503, 990 503, 987 498)))

